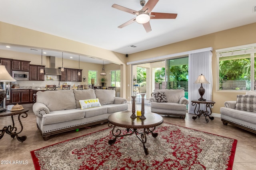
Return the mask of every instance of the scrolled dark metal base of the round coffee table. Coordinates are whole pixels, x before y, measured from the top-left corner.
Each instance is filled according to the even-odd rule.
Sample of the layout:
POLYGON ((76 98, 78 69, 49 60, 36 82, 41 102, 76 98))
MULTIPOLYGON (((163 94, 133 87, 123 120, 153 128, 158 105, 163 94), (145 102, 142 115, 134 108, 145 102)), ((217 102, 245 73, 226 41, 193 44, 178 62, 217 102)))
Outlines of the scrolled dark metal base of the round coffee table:
MULTIPOLYGON (((111 127, 112 125, 109 123, 108 124, 109 127, 111 127)), ((121 129, 116 129, 116 131, 114 130, 116 128, 116 126, 113 127, 112 129, 112 135, 115 137, 114 139, 110 139, 108 141, 109 145, 113 145, 116 142, 116 138, 118 137, 123 137, 123 136, 128 136, 128 135, 132 135, 133 133, 136 134, 136 136, 138 137, 138 139, 140 139, 140 141, 143 144, 143 149, 146 155, 148 155, 148 148, 145 147, 145 143, 147 142, 147 136, 146 134, 151 133, 152 137, 156 138, 158 136, 158 133, 154 133, 153 131, 156 129, 156 127, 153 127, 153 129, 151 130, 150 128, 145 128, 142 131, 138 131, 138 129, 129 129, 127 128, 127 133, 126 134, 121 134, 122 131, 121 129)))

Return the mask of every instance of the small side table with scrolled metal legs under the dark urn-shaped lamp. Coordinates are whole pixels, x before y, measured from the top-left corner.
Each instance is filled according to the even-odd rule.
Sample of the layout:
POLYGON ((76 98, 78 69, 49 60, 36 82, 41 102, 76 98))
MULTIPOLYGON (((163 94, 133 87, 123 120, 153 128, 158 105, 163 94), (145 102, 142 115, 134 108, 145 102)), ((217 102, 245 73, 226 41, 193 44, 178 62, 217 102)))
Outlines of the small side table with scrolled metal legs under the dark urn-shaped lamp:
POLYGON ((214 117, 210 116, 212 114, 211 107, 215 104, 214 101, 211 101, 211 100, 202 100, 202 101, 191 100, 191 102, 192 102, 192 106, 196 106, 195 109, 194 109, 194 114, 196 114, 196 116, 193 116, 192 119, 195 120, 197 117, 199 118, 201 115, 203 115, 205 117, 205 120, 206 120, 207 123, 209 122, 209 120, 206 118, 207 116, 211 120, 214 119, 214 117), (205 110, 200 109, 200 104, 205 104, 205 110), (210 111, 207 108, 209 108, 210 111))

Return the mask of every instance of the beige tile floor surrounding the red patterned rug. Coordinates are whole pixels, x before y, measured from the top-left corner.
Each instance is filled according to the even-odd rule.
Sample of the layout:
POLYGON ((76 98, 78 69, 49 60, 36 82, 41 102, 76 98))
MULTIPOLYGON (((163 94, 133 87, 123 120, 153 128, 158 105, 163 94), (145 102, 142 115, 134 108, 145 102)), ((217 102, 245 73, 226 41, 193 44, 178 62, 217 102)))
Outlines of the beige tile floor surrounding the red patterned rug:
MULTIPOLYGON (((16 138, 12 139, 8 134, 4 135, 4 137, 0 140, 0 170, 33 170, 34 164, 30 156, 31 150, 36 150, 41 147, 52 145, 54 143, 108 127, 107 123, 102 125, 94 125, 90 128, 80 129, 78 132, 69 131, 67 133, 53 135, 48 141, 44 141, 36 127, 36 116, 32 112, 32 104, 24 104, 23 106, 28 107, 30 111, 28 111, 28 117, 22 119, 24 129, 19 136, 26 135, 27 140, 21 143, 16 138), (13 164, 12 162, 16 160, 19 160, 20 163, 13 164), (6 161, 10 161, 11 164, 6 164, 6 161)), ((136 107, 138 109, 141 108, 140 105, 136 105, 136 107)), ((132 106, 129 104, 129 109, 131 110, 131 108, 132 106)), ((145 110, 150 111, 150 107, 145 106, 145 110)), ((256 134, 232 125, 225 126, 218 117, 215 117, 215 119, 213 121, 209 121, 209 123, 206 123, 204 117, 193 120, 192 115, 188 113, 185 120, 178 117, 170 117, 165 115, 163 115, 163 117, 164 121, 168 123, 237 139, 238 143, 236 147, 233 170, 256 169, 256 134)), ((11 117, 0 117, 1 129, 3 126, 10 123, 11 117)))

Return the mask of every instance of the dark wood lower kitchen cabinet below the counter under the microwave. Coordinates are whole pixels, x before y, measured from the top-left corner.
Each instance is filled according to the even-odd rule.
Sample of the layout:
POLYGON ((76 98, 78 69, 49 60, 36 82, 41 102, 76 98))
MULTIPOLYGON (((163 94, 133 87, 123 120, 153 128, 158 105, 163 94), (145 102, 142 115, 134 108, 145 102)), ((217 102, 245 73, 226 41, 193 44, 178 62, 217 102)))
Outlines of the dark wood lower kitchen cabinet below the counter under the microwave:
POLYGON ((12 104, 22 104, 30 102, 30 89, 12 89, 11 90, 12 104))

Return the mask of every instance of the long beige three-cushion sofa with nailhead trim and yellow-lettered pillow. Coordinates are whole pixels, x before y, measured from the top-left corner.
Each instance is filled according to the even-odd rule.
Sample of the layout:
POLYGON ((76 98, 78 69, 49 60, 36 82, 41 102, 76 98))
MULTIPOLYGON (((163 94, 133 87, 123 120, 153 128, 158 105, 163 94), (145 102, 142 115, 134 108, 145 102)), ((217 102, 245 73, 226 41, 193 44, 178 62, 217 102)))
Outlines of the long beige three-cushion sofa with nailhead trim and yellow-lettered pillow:
POLYGON ((33 105, 37 127, 44 140, 50 135, 108 121, 108 116, 128 109, 127 100, 114 90, 54 90, 36 93, 33 105), (81 109, 79 100, 97 99, 100 107, 81 109))

